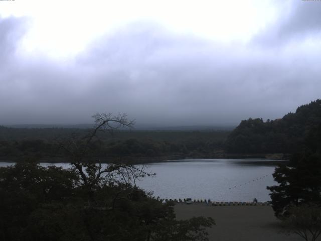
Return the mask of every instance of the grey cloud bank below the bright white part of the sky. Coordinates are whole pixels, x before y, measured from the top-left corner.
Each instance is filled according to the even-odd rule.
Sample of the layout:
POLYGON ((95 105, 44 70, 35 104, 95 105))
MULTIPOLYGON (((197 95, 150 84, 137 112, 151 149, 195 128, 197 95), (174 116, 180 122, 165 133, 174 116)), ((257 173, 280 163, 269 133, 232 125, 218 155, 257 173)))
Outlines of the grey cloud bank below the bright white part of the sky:
MULTIPOLYGON (((12 55, 19 41, 7 40, 20 33, 21 23, 6 21, 0 22, 0 43, 9 44, 3 56, 14 61, 0 74, 0 101, 6 103, 0 124, 91 123, 93 113, 108 111, 127 112, 138 124, 230 125, 281 117, 320 97, 321 55, 300 44, 222 44, 140 22, 59 63, 12 55)), ((317 32, 303 27, 288 31, 317 32)))

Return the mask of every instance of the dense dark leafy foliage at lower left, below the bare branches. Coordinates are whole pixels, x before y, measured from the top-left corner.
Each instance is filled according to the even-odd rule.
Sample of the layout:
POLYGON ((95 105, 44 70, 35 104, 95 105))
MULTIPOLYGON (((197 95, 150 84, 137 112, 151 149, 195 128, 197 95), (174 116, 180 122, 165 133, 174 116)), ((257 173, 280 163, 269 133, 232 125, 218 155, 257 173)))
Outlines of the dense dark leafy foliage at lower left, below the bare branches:
POLYGON ((103 178, 92 189, 73 169, 20 163, 0 168, 1 240, 207 240, 211 218, 175 219, 130 184, 103 178))

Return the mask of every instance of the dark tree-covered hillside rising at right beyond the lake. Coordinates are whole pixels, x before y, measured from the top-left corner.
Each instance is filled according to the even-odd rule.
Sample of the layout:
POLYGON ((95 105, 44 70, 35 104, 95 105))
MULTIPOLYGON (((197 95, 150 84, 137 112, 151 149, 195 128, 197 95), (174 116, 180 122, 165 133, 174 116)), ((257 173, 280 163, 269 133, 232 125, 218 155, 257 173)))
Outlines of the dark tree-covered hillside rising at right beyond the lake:
POLYGON ((321 100, 317 99, 281 119, 242 121, 228 136, 225 149, 228 153, 293 153, 320 124, 321 100))

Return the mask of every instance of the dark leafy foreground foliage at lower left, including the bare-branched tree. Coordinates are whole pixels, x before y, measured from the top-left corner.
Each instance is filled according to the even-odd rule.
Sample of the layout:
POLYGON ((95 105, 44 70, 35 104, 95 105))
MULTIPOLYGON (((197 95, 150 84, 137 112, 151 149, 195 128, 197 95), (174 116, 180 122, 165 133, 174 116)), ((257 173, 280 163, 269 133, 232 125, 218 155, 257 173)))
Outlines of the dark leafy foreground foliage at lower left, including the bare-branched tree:
POLYGON ((83 137, 57 140, 69 169, 17 163, 0 168, 1 240, 208 240, 214 220, 176 220, 163 204, 135 186, 146 173, 131 164, 94 159, 99 131, 131 127, 126 115, 97 113, 83 137))

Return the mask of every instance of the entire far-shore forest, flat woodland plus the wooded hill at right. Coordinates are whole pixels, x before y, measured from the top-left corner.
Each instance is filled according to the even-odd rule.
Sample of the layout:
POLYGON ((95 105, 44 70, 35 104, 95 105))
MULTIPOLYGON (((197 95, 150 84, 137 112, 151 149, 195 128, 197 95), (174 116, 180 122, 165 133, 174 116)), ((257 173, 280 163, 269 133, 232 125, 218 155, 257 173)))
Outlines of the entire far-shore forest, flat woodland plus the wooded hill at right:
MULTIPOLYGON (((99 133, 92 145, 102 162, 152 162, 177 158, 265 157, 294 153, 321 123, 321 100, 299 106, 283 118, 249 118, 233 131, 118 131, 99 133)), ((0 159, 59 162, 59 140, 84 137, 90 129, 0 127, 0 159)))

